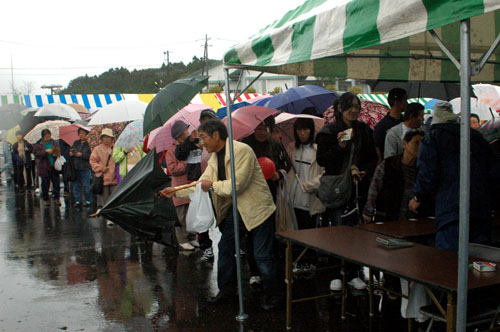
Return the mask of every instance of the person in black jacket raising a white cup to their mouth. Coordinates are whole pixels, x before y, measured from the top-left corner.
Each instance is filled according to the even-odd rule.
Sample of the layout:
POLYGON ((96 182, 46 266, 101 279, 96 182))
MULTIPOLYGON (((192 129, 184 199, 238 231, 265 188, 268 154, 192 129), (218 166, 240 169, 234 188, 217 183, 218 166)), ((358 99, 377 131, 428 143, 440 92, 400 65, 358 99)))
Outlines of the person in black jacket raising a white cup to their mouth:
MULTIPOLYGON (((368 191, 369 179, 377 165, 373 131, 367 124, 357 120, 361 103, 355 94, 344 93, 335 101, 334 108, 335 122, 323 127, 316 137, 318 144, 316 160, 325 168, 326 175, 342 174, 345 171, 345 164, 349 161, 351 149, 354 147, 352 176, 353 180, 359 183, 359 195, 364 196, 363 193, 368 191), (343 137, 348 135, 347 129, 352 129, 352 133, 351 138, 345 140, 343 137), (368 180, 365 181, 365 178, 368 180)), ((354 198, 353 196, 351 201, 354 201, 354 198)), ((340 217, 345 208, 326 209, 333 225, 343 223, 340 217)))

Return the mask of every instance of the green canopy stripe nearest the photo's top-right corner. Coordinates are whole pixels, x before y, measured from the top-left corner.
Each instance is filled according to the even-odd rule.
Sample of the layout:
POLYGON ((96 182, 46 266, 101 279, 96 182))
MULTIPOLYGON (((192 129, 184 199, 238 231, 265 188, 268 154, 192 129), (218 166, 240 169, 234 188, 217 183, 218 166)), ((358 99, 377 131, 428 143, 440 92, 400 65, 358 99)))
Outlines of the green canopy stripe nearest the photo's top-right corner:
POLYGON ((422 0, 427 9, 427 30, 484 13, 483 0, 422 0))

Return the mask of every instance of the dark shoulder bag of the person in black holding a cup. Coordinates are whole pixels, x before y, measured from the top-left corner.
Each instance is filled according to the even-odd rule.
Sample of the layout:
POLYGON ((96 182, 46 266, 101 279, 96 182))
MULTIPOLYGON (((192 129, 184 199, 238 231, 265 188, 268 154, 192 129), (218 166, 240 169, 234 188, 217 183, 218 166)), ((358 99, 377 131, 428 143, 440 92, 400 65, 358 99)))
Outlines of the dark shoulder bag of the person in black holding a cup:
POLYGON ((345 206, 351 199, 352 194, 352 174, 351 163, 354 155, 355 144, 351 145, 349 162, 345 169, 338 175, 323 175, 319 179, 319 189, 317 196, 325 207, 337 209, 345 206))

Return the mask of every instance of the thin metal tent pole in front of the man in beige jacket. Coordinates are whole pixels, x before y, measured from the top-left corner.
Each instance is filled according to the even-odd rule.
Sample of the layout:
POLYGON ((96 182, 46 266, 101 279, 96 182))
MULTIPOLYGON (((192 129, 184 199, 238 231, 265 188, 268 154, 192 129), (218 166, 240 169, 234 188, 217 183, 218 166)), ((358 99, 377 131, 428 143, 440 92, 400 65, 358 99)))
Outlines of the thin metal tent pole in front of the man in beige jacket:
POLYGON ((229 134, 229 160, 231 164, 231 185, 232 185, 232 198, 233 198, 233 220, 234 220, 234 246, 236 249, 236 277, 238 279, 238 301, 240 305, 240 312, 236 316, 237 321, 244 321, 248 318, 245 314, 243 304, 243 282, 241 279, 241 256, 240 256, 240 220, 238 216, 238 203, 236 200, 236 175, 234 167, 234 146, 233 146, 233 123, 231 117, 231 89, 229 87, 229 69, 225 69, 226 75, 226 104, 227 104, 227 126, 229 134))

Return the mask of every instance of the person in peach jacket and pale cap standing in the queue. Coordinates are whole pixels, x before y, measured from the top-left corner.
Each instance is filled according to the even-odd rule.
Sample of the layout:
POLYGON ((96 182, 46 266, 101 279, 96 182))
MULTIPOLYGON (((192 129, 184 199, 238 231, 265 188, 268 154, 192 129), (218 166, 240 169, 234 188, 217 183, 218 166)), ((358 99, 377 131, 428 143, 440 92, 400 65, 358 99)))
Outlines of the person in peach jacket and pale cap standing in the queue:
MULTIPOLYGON (((90 155, 90 165, 95 173, 95 176, 103 178, 102 193, 98 195, 98 206, 104 206, 108 201, 109 196, 113 192, 118 182, 116 181, 115 162, 113 160, 113 130, 104 128, 100 139, 101 144, 94 148, 90 155)), ((107 221, 108 226, 114 225, 113 222, 107 221)))

